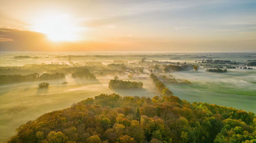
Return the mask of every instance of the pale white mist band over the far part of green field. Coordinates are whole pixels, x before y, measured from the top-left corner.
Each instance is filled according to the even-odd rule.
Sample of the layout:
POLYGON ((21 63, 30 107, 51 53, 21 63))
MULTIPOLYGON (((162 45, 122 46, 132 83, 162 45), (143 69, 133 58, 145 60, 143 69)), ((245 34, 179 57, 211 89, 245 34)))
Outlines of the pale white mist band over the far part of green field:
MULTIPOLYGON (((199 69, 197 72, 174 72, 175 78, 185 78, 193 83, 200 85, 220 85, 226 87, 256 90, 256 70, 246 69, 228 69, 226 73, 205 72, 205 69, 199 69)), ((256 95, 256 93, 255 93, 256 95)))

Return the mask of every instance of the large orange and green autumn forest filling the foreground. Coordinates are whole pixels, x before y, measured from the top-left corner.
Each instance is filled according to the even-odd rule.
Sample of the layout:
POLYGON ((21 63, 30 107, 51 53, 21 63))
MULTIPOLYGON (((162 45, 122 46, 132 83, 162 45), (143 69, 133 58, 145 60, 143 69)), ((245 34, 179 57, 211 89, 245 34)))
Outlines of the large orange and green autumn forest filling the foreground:
POLYGON ((171 97, 101 94, 27 122, 8 143, 255 141, 254 113, 171 97))

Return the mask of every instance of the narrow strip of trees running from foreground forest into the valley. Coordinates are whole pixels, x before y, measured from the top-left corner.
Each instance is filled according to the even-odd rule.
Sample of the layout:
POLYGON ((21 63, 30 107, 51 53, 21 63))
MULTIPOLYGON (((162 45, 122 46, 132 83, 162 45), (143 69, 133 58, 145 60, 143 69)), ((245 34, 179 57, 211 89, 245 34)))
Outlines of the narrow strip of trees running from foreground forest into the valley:
POLYGON ((173 96, 174 95, 174 93, 172 91, 170 91, 168 88, 166 88, 164 83, 162 81, 160 81, 155 74, 151 73, 150 78, 153 80, 153 82, 155 83, 158 91, 160 91, 160 93, 162 95, 167 95, 167 96, 173 96))

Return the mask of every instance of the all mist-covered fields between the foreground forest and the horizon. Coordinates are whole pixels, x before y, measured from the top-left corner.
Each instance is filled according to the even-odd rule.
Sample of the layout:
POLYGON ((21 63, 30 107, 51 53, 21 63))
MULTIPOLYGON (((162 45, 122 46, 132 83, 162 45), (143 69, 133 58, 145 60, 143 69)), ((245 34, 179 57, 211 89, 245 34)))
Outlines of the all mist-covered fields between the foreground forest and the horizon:
POLYGON ((157 75, 175 96, 190 103, 214 103, 256 112, 256 68, 247 66, 256 54, 227 54, 230 60, 222 53, 2 53, 1 140, 8 140, 19 125, 46 112, 102 93, 153 98, 159 91, 150 73, 157 75), (229 62, 206 63, 207 59, 229 62), (168 65, 187 68, 167 70, 168 65), (209 68, 227 72, 207 72, 209 68), (109 81, 114 78, 142 82, 143 87, 109 88, 109 81), (49 83, 49 87, 39 88, 41 82, 49 83))

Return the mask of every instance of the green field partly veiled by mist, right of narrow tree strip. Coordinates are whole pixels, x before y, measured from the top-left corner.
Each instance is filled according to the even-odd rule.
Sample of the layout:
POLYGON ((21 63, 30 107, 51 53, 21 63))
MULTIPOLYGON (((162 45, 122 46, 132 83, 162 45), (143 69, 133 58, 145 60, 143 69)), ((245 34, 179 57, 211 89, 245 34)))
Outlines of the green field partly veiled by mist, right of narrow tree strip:
POLYGON ((230 69, 227 73, 209 73, 200 69, 170 74, 191 81, 188 85, 167 84, 181 99, 256 112, 256 70, 230 69))

